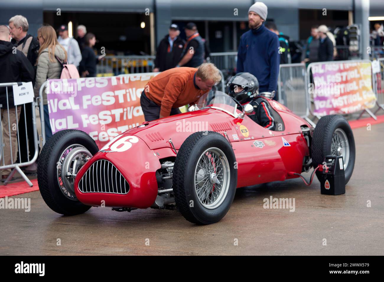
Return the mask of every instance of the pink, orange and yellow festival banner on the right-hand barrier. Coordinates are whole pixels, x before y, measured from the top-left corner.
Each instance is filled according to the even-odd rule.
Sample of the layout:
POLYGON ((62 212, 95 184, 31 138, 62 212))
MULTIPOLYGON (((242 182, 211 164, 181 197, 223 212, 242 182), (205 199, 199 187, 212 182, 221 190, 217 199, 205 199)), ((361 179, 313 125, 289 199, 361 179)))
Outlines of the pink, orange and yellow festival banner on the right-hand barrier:
POLYGON ((374 107, 371 63, 316 64, 311 69, 314 114, 349 114, 374 107))

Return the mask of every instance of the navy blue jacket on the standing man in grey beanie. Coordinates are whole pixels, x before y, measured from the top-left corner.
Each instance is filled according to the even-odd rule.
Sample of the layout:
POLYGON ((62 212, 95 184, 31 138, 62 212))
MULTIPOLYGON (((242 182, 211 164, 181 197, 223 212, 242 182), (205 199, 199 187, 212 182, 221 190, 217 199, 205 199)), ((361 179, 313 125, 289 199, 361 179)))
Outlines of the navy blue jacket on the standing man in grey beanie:
POLYGON ((277 90, 279 75, 279 38, 265 28, 248 30, 240 38, 237 73, 251 73, 259 82, 260 92, 277 90))

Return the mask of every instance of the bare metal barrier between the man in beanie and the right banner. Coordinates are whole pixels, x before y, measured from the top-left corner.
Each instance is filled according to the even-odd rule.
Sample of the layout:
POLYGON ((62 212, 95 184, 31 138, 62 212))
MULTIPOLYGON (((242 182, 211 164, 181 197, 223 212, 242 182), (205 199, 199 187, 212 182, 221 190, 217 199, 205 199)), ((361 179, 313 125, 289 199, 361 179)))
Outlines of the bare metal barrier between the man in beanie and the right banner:
POLYGON ((281 64, 277 81, 278 99, 296 115, 310 121, 308 76, 304 63, 281 64))

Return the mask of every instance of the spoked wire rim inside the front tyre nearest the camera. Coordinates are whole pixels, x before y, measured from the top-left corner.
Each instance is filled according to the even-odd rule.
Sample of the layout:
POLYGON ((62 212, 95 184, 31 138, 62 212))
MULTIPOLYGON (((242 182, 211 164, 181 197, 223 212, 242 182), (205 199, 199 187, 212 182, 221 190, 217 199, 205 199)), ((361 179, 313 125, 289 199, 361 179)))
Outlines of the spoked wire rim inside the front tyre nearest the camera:
POLYGON ((219 148, 205 150, 195 168, 195 192, 207 209, 222 204, 228 193, 230 169, 227 157, 219 148))

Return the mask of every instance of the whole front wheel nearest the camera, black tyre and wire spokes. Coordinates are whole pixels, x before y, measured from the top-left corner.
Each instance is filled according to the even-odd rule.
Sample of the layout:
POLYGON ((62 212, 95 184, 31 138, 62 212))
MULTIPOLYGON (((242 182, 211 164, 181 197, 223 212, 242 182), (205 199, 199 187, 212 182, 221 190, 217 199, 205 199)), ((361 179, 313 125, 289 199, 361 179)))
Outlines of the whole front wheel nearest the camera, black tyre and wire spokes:
POLYGON ((175 203, 185 219, 211 224, 227 214, 237 186, 235 162, 230 143, 217 132, 196 132, 184 141, 172 179, 175 203))

